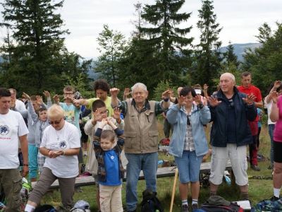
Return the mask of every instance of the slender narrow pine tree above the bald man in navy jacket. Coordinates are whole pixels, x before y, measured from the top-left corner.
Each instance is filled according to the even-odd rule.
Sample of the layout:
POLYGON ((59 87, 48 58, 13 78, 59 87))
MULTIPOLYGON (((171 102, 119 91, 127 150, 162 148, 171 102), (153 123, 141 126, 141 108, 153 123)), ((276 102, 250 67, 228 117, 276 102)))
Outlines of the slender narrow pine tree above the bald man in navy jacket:
MULTIPOLYGON (((193 83, 212 85, 213 78, 219 78, 219 71, 223 56, 220 52, 221 41, 219 41, 219 23, 216 23, 213 1, 202 1, 202 8, 199 10, 200 20, 197 28, 200 29, 200 44, 196 46, 195 60, 191 72, 193 83)), ((214 85, 215 86, 215 85, 214 85)), ((212 86, 210 86, 212 87, 212 86)))

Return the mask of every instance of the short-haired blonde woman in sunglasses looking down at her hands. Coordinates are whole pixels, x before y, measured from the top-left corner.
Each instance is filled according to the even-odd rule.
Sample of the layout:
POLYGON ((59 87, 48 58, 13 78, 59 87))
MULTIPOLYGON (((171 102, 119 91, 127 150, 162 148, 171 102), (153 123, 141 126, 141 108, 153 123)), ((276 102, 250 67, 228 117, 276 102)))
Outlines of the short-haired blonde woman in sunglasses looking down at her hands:
POLYGON ((58 179, 64 208, 73 208, 75 177, 78 175, 80 134, 78 129, 64 120, 64 110, 52 105, 47 111, 50 126, 44 130, 39 148, 47 156, 40 178, 32 190, 25 211, 34 211, 51 184, 58 179))

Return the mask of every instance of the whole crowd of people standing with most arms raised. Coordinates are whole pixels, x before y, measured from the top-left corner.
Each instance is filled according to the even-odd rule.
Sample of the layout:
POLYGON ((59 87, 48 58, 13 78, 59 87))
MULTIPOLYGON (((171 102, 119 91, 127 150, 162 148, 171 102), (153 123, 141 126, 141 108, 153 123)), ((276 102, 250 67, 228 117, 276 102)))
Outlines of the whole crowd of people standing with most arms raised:
POLYGON ((271 84, 263 105, 261 92, 252 86, 251 81, 251 74, 244 72, 242 86, 236 86, 233 74, 223 73, 218 89, 212 95, 208 95, 206 84, 204 96, 200 85, 183 86, 178 88, 176 97, 171 89, 165 90, 158 102, 147 100, 149 91, 143 83, 135 83, 131 90, 126 88, 123 100, 118 100, 120 90, 110 88, 100 79, 93 85, 97 98, 75 98, 75 89, 66 86, 63 102, 59 101, 59 95, 54 95, 54 105, 48 91, 43 93, 47 105, 41 96, 23 93, 25 105, 16 99, 15 89, 0 88, 0 179, 7 199, 6 212, 20 211, 21 177, 27 174, 30 182, 37 181, 37 184, 24 211, 34 211, 56 179, 63 208, 71 210, 75 190, 82 192, 80 187, 75 187, 75 177, 79 176, 80 164, 83 163, 82 148, 87 156, 85 172, 94 177, 96 184, 98 210, 123 211, 121 186, 126 166, 126 208, 136 211, 141 170, 146 189, 157 192, 159 114, 164 117, 166 139, 172 131, 168 153, 174 156, 179 170, 183 212, 189 211, 189 182, 192 211, 198 208, 200 165, 203 156, 209 153, 212 153, 210 196, 216 195, 225 167, 231 160, 242 199, 249 200, 247 146, 250 168, 259 171, 257 151, 263 107, 269 115, 269 169, 273 169, 274 179, 271 200, 280 199, 282 86, 280 81, 271 84), (82 107, 87 117, 84 124, 82 107), (212 124, 211 150, 205 134, 209 122, 212 124), (87 151, 88 139, 90 146, 87 151), (22 164, 18 153, 23 154, 22 164))

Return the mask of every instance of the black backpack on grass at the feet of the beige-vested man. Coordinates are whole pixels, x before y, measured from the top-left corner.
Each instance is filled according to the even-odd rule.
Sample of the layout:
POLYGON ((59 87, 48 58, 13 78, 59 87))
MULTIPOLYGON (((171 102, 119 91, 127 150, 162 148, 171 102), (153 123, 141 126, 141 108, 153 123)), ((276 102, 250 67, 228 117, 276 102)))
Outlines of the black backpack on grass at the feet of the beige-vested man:
POLYGON ((157 199, 157 192, 152 192, 150 189, 146 189, 142 192, 143 201, 141 202, 141 212, 164 212, 164 208, 161 205, 159 199, 157 199))

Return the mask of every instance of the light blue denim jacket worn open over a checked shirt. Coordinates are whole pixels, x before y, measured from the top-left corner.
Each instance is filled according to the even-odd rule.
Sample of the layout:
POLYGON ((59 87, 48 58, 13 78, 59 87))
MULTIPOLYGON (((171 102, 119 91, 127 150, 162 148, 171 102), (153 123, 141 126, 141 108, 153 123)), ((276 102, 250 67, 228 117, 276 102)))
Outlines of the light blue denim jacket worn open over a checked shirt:
MULTIPOLYGON (((195 143, 195 153, 200 156, 209 152, 203 125, 209 123, 211 113, 207 106, 202 110, 197 110, 197 106, 193 104, 193 108, 194 110, 191 112, 192 136, 195 143)), ((187 116, 183 107, 179 108, 178 105, 173 105, 166 113, 166 117, 168 122, 173 124, 168 153, 181 158, 187 129, 187 116)))

